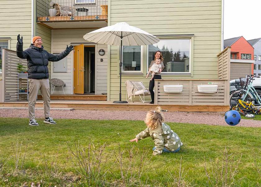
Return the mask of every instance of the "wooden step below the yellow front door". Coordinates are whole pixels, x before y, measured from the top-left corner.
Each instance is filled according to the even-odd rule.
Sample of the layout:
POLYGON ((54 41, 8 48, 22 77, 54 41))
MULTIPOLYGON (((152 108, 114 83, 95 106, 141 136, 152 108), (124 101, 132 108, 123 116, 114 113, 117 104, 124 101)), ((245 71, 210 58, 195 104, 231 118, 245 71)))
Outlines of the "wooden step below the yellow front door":
MULTIPOLYGON (((85 101, 107 101, 107 95, 94 94, 52 94, 51 100, 85 100, 85 101)), ((42 95, 38 95, 38 99, 43 99, 42 95)))

